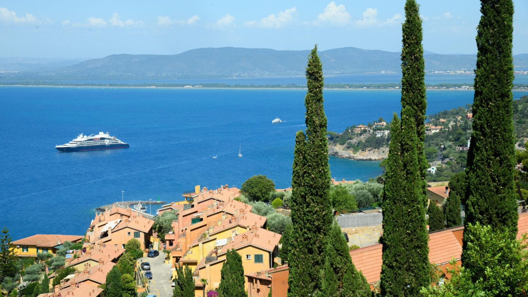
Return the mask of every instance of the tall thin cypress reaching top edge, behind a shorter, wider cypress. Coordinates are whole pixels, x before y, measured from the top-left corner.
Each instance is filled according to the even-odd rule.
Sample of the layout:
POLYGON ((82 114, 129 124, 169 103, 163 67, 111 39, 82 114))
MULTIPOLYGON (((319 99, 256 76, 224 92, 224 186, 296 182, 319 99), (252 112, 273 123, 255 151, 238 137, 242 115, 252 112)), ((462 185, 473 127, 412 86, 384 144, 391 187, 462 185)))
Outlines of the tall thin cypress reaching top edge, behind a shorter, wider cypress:
POLYGON ((420 178, 423 183, 423 206, 427 206, 427 162, 424 141, 426 128, 426 84, 425 61, 423 60, 422 20, 419 5, 415 0, 407 0, 405 4, 405 22, 402 24, 401 50, 401 106, 410 107, 414 112, 416 135, 418 137, 417 155, 420 178))

